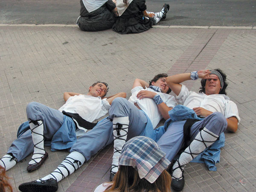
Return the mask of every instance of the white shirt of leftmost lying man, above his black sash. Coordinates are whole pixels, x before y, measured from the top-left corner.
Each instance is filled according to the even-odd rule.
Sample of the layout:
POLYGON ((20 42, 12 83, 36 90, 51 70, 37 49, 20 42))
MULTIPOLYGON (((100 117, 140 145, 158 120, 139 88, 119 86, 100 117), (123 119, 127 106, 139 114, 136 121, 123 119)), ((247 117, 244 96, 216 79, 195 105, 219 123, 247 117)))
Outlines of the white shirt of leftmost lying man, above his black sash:
MULTIPOLYGON (((58 111, 78 113, 84 120, 93 122, 107 114, 109 108, 110 105, 107 99, 101 99, 100 96, 94 97, 90 95, 75 95, 68 98, 66 103, 59 108, 58 111)), ((75 119, 73 120, 76 122, 75 119)), ((78 132, 76 132, 76 136, 80 136, 87 131, 87 129, 80 127, 78 123, 76 123, 76 125, 80 130, 83 130, 77 130, 78 132)))

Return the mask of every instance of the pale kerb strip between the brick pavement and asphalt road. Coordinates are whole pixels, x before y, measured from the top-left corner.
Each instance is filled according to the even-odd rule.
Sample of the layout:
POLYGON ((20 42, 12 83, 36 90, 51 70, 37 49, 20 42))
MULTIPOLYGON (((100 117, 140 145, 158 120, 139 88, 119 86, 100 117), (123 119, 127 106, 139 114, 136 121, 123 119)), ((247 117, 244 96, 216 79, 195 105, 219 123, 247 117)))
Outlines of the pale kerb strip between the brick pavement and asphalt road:
MULTIPOLYGON (((77 27, 76 24, 66 25, 66 24, 4 24, 0 23, 0 26, 51 26, 51 27, 77 27)), ((256 29, 256 26, 163 26, 156 25, 153 28, 190 28, 190 29, 256 29)))

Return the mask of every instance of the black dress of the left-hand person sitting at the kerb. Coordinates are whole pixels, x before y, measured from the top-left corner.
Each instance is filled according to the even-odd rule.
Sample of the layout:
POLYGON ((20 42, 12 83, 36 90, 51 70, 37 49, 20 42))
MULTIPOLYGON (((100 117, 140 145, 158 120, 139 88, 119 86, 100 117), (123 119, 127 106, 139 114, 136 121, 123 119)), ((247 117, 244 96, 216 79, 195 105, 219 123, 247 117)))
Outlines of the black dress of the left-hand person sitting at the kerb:
POLYGON ((113 26, 115 16, 112 10, 115 9, 116 4, 112 0, 108 0, 103 6, 90 13, 82 0, 80 0, 80 4, 81 17, 78 20, 78 26, 82 31, 101 31, 113 26))

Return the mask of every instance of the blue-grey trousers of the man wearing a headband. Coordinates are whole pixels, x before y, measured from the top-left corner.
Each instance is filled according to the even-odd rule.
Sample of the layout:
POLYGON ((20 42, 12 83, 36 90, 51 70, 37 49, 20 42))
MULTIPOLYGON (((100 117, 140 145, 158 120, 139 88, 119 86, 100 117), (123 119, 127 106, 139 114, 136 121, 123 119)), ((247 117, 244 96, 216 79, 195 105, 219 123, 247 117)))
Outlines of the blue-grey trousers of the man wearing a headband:
MULTIPOLYGON (((157 141, 160 149, 166 153, 166 158, 172 161, 184 144, 183 125, 186 121, 173 122, 157 141)), ((215 112, 205 119, 195 122, 190 129, 191 141, 195 139, 200 128, 207 128, 216 135, 220 135, 227 128, 227 119, 222 113, 215 112)))

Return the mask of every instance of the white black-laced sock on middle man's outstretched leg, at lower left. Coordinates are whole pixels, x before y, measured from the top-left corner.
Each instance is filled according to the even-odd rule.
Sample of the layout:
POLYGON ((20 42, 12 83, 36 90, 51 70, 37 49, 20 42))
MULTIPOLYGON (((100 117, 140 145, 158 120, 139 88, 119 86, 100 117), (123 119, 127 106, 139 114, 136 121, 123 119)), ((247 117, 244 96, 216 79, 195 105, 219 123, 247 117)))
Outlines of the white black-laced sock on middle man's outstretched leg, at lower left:
POLYGON ((84 164, 84 161, 85 158, 81 153, 73 151, 62 161, 62 163, 57 167, 57 169, 54 170, 54 172, 41 179, 38 179, 37 181, 53 178, 59 182, 60 180, 75 172, 76 169, 81 167, 84 164))

